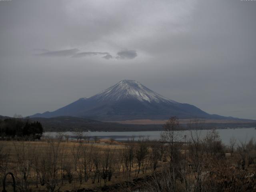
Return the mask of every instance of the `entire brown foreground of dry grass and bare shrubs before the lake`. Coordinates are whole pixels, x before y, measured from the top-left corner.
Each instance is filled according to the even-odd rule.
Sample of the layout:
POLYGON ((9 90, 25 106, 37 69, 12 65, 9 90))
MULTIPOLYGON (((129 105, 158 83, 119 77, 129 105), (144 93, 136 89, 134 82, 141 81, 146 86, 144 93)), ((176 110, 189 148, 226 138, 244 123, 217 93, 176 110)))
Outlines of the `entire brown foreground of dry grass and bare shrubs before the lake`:
MULTIPOLYGON (((18 192, 256 190, 254 140, 224 146, 212 130, 179 143, 176 134, 166 129, 162 141, 136 142, 2 140, 0 179, 12 172, 18 192)), ((10 176, 7 186, 12 191, 10 176)))

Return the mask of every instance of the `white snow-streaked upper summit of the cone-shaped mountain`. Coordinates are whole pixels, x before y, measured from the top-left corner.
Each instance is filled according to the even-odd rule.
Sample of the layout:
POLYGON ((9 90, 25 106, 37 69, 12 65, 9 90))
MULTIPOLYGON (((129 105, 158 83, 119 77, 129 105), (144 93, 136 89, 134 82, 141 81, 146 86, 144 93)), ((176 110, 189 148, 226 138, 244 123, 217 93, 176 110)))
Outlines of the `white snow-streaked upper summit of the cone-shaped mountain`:
POLYGON ((92 98, 99 101, 137 99, 139 101, 148 102, 175 102, 157 94, 135 80, 122 80, 114 86, 96 94, 92 98))

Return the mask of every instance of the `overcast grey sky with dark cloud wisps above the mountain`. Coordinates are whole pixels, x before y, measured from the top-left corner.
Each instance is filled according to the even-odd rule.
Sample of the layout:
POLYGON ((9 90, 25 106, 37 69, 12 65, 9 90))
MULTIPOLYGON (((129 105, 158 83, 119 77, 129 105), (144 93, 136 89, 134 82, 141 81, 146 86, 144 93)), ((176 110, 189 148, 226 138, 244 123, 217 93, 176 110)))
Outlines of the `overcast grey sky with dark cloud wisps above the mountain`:
POLYGON ((256 119, 256 1, 0 1, 0 115, 53 111, 120 80, 256 119))

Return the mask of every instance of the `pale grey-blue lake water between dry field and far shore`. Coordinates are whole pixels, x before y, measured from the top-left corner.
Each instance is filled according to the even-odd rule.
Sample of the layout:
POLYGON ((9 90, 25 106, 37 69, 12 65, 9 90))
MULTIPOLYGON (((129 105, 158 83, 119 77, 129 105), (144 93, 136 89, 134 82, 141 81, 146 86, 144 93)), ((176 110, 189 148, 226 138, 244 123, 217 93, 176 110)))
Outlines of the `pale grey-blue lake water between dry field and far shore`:
MULTIPOLYGON (((200 136, 204 137, 210 130, 200 130, 200 136)), ((162 131, 134 131, 134 132, 83 132, 84 135, 89 134, 90 139, 93 140, 95 136, 101 139, 113 138, 117 141, 128 140, 134 137, 134 140, 138 140, 140 137, 148 138, 150 140, 159 140, 162 131)), ((187 140, 190 135, 195 133, 195 130, 184 130, 181 132, 180 140, 184 140, 184 135, 187 136, 187 140)), ((218 129, 217 132, 220 135, 220 139, 224 144, 229 144, 230 138, 236 138, 237 142, 248 142, 251 138, 256 139, 255 128, 236 128, 236 129, 218 129)), ((58 132, 45 132, 43 137, 56 138, 58 132)), ((74 136, 74 132, 63 132, 64 135, 70 137, 74 136)))

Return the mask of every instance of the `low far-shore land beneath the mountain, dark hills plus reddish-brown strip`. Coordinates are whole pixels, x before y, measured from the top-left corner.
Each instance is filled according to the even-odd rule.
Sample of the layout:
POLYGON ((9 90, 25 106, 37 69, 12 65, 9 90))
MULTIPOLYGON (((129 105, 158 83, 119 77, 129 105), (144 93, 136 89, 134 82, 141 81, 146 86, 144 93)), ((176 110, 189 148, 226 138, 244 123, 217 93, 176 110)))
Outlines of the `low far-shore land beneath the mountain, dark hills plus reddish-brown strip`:
MULTIPOLYGON (((4 120, 6 116, 0 116, 4 120)), ((14 118, 15 119, 15 118, 14 118)), ((27 118, 23 118, 26 120, 27 118)), ((65 132, 79 129, 81 131, 158 131, 163 130, 167 120, 126 120, 117 122, 102 122, 88 118, 59 116, 52 118, 28 118, 30 122, 40 122, 45 132, 65 132)), ((204 120, 180 119, 180 126, 184 130, 194 129, 195 124, 202 129, 250 128, 256 127, 255 120, 204 120)))

